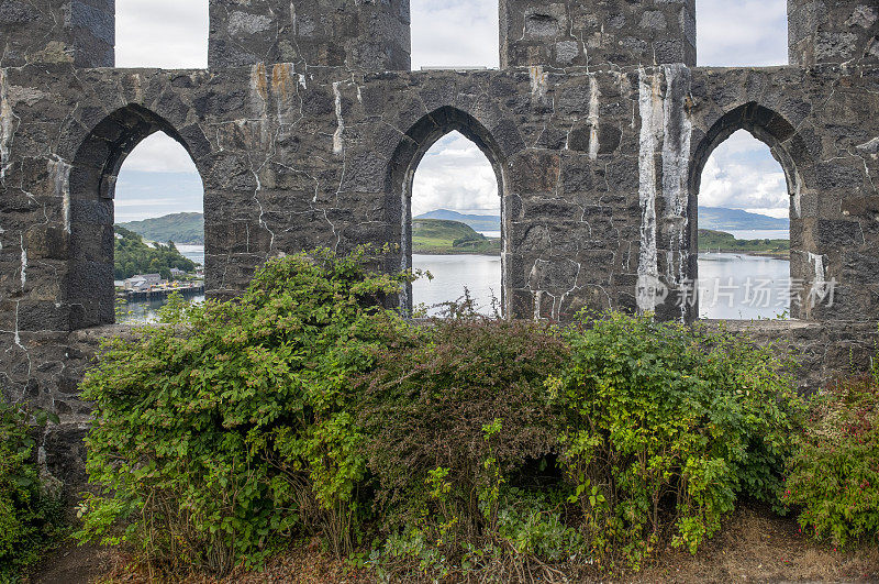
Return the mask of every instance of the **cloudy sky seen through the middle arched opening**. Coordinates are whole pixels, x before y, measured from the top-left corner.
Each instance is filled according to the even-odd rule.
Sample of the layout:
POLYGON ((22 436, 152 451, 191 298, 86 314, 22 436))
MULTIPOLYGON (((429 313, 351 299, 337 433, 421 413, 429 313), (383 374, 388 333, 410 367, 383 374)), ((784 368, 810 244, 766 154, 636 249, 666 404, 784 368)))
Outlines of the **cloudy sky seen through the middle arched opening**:
POLYGON ((494 169, 476 144, 458 132, 434 144, 415 169, 413 216, 434 209, 496 214, 500 202, 494 169))

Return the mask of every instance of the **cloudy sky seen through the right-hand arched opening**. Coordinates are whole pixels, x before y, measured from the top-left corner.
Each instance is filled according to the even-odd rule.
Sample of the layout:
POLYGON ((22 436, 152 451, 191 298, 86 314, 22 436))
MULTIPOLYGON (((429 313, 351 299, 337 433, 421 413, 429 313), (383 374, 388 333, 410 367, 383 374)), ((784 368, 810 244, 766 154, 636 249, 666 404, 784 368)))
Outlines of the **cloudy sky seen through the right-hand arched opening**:
POLYGON ((699 205, 787 217, 790 200, 785 172, 766 144, 741 130, 705 163, 699 205))

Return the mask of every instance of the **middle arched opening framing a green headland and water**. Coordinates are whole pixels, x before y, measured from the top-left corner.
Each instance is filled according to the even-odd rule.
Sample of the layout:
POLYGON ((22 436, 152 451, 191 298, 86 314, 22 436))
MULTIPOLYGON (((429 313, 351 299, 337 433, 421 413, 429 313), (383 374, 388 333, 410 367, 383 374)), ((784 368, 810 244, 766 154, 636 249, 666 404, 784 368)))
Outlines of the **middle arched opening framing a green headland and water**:
POLYGON ((494 169, 476 144, 452 132, 427 151, 412 184, 412 267, 433 279, 415 282, 413 305, 441 313, 466 288, 477 310, 500 311, 500 202, 494 169))

